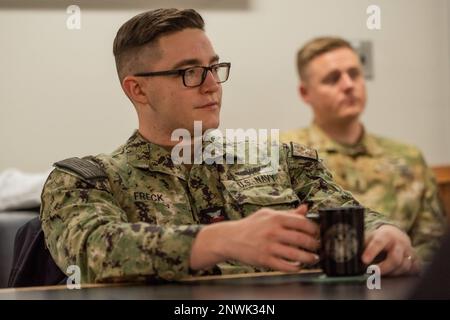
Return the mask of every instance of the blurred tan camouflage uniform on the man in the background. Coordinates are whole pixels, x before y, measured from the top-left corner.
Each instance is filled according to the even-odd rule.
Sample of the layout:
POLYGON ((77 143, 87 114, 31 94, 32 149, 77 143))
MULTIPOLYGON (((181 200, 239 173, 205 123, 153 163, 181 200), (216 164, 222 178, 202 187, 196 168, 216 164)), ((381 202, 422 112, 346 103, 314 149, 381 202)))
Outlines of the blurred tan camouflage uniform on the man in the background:
POLYGON ((337 184, 396 221, 424 261, 432 258, 446 223, 435 179, 417 148, 368 133, 356 145, 342 145, 315 124, 280 138, 318 149, 337 184))

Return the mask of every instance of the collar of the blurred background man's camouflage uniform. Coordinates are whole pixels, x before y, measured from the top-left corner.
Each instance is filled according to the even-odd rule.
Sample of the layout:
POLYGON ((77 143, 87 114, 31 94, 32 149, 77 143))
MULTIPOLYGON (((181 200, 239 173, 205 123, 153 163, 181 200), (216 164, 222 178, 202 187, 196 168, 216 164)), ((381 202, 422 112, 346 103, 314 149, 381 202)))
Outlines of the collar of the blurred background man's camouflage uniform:
POLYGON ((367 133, 363 127, 363 133, 359 141, 353 145, 342 144, 332 140, 315 123, 309 127, 309 141, 311 145, 326 153, 342 153, 351 157, 361 155, 378 156, 383 153, 383 149, 378 144, 374 136, 367 133))

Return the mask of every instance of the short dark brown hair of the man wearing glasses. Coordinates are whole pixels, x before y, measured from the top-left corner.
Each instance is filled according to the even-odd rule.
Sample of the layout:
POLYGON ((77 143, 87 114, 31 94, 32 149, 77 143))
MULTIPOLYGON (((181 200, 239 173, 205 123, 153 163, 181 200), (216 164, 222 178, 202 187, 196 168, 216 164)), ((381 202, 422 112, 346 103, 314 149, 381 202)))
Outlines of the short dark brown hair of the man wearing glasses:
POLYGON ((113 44, 120 81, 127 76, 127 62, 136 61, 139 51, 161 36, 187 28, 204 30, 205 22, 193 9, 156 9, 134 16, 117 31, 113 44))

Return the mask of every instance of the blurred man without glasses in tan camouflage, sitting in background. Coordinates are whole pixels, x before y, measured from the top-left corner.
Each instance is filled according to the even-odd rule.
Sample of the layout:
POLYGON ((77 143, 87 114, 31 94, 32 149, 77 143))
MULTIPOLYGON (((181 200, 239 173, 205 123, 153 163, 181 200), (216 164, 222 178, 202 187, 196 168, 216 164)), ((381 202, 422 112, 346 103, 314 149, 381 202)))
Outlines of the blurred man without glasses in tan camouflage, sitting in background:
POLYGON ((344 189, 364 205, 389 215, 429 261, 446 228, 431 170, 414 146, 368 133, 363 68, 344 39, 323 37, 297 54, 299 92, 314 113, 312 124, 281 134, 318 149, 344 189))

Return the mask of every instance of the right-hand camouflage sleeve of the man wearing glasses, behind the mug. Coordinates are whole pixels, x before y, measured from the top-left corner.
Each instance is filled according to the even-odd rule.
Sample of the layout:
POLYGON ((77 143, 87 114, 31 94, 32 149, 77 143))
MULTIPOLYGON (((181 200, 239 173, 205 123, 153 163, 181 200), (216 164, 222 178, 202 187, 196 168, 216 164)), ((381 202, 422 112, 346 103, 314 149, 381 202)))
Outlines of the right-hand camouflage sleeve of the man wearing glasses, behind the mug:
MULTIPOLYGON (((309 211, 318 212, 321 208, 355 206, 360 203, 353 195, 337 185, 331 173, 318 159, 315 150, 302 146, 285 148, 286 162, 291 177, 292 188, 302 203, 308 204, 309 211)), ((375 230, 383 224, 392 224, 386 217, 369 208, 365 210, 365 229, 375 230)))

